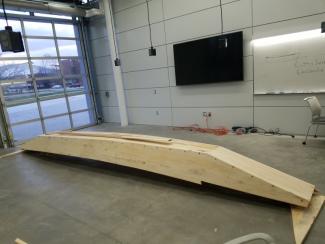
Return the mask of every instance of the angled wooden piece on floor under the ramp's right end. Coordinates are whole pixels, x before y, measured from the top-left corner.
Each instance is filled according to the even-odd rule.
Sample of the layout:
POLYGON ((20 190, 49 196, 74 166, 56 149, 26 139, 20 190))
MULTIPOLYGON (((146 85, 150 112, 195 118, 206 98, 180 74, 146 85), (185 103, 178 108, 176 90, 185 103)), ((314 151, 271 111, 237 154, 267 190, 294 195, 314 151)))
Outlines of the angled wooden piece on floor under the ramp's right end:
POLYGON ((325 196, 314 195, 308 208, 298 206, 291 207, 293 231, 296 244, 302 244, 317 218, 323 204, 325 196))

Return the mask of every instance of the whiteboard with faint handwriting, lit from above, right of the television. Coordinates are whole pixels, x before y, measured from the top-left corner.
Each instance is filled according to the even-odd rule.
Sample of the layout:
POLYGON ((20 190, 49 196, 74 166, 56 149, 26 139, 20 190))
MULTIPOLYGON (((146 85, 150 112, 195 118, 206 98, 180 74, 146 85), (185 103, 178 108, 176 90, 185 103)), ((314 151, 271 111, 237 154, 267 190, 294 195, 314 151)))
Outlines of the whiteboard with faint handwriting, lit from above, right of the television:
POLYGON ((325 34, 254 46, 255 93, 325 92, 325 34))

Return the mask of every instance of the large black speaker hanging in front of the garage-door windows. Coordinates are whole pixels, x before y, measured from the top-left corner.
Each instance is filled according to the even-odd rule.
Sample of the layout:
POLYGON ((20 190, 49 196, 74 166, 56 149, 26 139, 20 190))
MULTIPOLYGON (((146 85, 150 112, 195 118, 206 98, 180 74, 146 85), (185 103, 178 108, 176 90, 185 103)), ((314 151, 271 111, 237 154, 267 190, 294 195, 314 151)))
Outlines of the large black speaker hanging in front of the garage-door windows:
POLYGON ((0 45, 3 52, 24 52, 23 38, 20 32, 12 31, 11 26, 6 26, 0 31, 0 45))

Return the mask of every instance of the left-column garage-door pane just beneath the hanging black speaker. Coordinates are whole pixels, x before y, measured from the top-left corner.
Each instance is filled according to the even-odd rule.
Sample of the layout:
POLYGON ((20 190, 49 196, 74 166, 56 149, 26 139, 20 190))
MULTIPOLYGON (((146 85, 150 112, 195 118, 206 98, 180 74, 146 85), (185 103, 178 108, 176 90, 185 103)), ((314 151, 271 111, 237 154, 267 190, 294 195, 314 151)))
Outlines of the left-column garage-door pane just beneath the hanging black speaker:
POLYGON ((1 60, 0 80, 18 80, 30 77, 30 69, 27 60, 1 60))

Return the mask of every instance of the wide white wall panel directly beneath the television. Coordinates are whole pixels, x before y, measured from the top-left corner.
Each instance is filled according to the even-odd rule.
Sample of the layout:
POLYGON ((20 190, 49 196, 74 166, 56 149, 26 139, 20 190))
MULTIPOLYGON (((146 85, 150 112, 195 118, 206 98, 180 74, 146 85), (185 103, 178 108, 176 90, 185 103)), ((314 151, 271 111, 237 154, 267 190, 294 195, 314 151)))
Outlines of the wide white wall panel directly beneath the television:
POLYGON ((171 88, 173 107, 252 106, 252 93, 252 81, 171 88))

